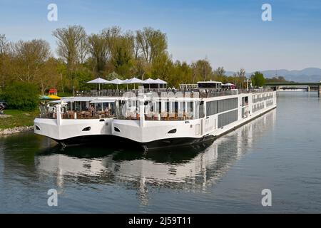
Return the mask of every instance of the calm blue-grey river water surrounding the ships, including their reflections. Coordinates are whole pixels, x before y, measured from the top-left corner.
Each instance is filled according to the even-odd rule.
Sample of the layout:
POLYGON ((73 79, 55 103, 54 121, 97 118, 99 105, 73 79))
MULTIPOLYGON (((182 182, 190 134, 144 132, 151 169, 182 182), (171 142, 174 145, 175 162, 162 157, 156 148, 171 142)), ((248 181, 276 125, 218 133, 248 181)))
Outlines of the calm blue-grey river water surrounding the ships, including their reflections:
POLYGON ((205 148, 144 153, 108 142, 63 148, 34 133, 1 137, 0 212, 320 212, 321 100, 282 92, 277 102, 205 148), (57 207, 48 206, 50 189, 57 207))

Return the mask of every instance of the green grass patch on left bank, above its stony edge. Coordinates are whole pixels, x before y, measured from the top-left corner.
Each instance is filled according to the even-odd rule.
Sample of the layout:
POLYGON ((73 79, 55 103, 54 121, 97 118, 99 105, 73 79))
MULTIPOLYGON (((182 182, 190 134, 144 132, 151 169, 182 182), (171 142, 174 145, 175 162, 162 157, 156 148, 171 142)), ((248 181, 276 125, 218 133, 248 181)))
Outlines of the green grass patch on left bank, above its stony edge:
POLYGON ((34 125, 34 118, 39 116, 39 110, 4 110, 4 114, 12 116, 9 118, 0 118, 0 130, 34 125))

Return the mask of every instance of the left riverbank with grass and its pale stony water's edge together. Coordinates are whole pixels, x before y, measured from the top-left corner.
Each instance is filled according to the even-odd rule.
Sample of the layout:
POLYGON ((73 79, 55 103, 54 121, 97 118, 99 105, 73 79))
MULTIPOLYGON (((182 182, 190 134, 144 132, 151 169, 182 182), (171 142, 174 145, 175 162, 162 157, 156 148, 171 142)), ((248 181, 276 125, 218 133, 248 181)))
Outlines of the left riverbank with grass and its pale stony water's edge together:
POLYGON ((39 115, 39 110, 5 110, 5 115, 0 118, 0 135, 11 135, 34 129, 34 118, 39 115))

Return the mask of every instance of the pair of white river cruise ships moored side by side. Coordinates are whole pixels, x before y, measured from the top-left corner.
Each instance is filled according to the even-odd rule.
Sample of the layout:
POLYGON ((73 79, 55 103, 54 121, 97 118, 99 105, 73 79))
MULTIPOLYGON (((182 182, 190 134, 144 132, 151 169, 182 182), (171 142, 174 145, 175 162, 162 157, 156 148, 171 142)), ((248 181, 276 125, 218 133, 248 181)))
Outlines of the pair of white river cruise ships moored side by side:
POLYGON ((221 84, 61 98, 41 106, 34 132, 64 145, 133 142, 148 150, 215 140, 277 106, 275 91, 223 89, 221 84))

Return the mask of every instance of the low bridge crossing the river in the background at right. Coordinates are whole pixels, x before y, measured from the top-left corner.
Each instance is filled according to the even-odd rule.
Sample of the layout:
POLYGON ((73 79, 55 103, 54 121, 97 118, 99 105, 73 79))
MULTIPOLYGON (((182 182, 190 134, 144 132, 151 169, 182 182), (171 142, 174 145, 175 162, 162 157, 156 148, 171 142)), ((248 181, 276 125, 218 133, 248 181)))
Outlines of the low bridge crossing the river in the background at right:
POLYGON ((317 83, 265 83, 265 86, 270 86, 274 90, 316 90, 320 97, 321 81, 317 83))

